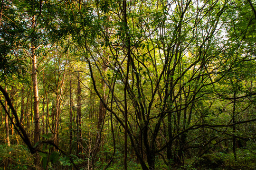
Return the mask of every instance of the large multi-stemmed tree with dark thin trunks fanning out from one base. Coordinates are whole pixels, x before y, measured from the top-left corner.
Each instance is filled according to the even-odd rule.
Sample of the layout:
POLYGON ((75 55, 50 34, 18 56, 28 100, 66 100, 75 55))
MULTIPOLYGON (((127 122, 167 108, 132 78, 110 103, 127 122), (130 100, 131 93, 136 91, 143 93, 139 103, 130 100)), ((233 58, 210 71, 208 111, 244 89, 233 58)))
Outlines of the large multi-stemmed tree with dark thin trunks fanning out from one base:
MULTIPOLYGON (((89 64, 94 90, 106 109, 114 114, 115 119, 124 129, 127 127, 127 134, 130 136, 130 142, 141 162, 142 169, 155 169, 155 155, 165 148, 167 148, 166 157, 170 163, 174 161, 180 164, 184 159, 182 148, 187 143, 186 133, 189 130, 206 126, 203 119, 199 124, 191 123, 195 106, 200 101, 207 100, 208 95, 214 93, 209 91, 209 87, 218 84, 233 69, 228 67, 226 70, 221 70, 223 58, 218 57, 225 55, 225 51, 229 48, 226 46, 227 41, 221 41, 221 32, 227 28, 222 18, 229 14, 228 6, 232 3, 229 1, 224 3, 222 1, 215 3, 206 1, 200 4, 192 1, 177 1, 176 4, 159 3, 161 4, 159 5, 156 3, 157 5, 151 10, 146 8, 142 2, 134 2, 140 5, 139 8, 129 11, 129 16, 132 17, 131 22, 127 25, 122 24, 120 19, 122 18, 120 12, 123 8, 121 3, 118 5, 113 5, 111 2, 106 3, 100 10, 102 13, 106 13, 108 10, 114 11, 110 18, 118 18, 113 21, 118 24, 109 26, 109 29, 114 30, 112 32, 116 34, 108 37, 107 42, 93 42, 92 40, 95 39, 91 35, 93 31, 87 32, 86 26, 84 26, 82 30, 83 34, 87 34, 87 39, 84 39, 85 43, 79 43, 82 47, 84 46, 81 52, 84 53, 89 64), (104 10, 106 6, 108 8, 104 10), (157 19, 151 21, 150 17, 157 19), (156 25, 157 21, 160 24, 156 25), (130 51, 129 45, 127 45, 128 40, 131 40, 131 44, 133 44, 131 65, 129 61, 125 62, 130 51), (219 45, 216 48, 217 44, 219 45), (100 70, 97 64, 100 58, 93 57, 97 51, 100 51, 95 49, 103 46, 112 53, 112 57, 109 58, 110 69, 107 75, 100 70), (122 53, 118 53, 120 50, 122 53), (90 58, 87 57, 88 55, 90 58), (115 109, 121 112, 121 115, 110 109, 99 93, 92 62, 96 65, 98 73, 106 82, 110 92, 116 89, 116 86, 113 87, 113 81, 119 80, 120 85, 127 85, 123 91, 124 98, 117 96, 116 93, 113 94, 116 103, 115 109), (128 76, 130 67, 133 73, 128 76), (216 75, 221 76, 217 77, 216 75), (151 94, 144 93, 148 92, 150 87, 151 94), (126 121, 122 118, 122 115, 125 118, 128 113, 126 91, 129 95, 129 105, 132 105, 133 108, 131 110, 135 112, 135 117, 131 115, 129 121, 135 121, 135 127, 129 121, 125 126, 126 121), (153 107, 154 105, 155 107, 153 107), (182 113, 183 118, 181 117, 182 113), (168 122, 167 125, 165 122, 168 122), (181 122, 182 126, 180 127, 181 122), (163 141, 160 148, 156 148, 160 131, 163 130, 161 125, 168 127, 165 134, 167 140, 163 141), (138 134, 140 135, 135 133, 136 127, 139 127, 138 134), (137 140, 140 138, 139 136, 141 136, 141 141, 137 140), (180 150, 175 151, 174 148, 177 146, 180 147, 180 150), (147 155, 149 167, 144 162, 144 153, 147 155)), ((132 6, 132 3, 130 5, 132 6)), ((125 15, 125 12, 122 14, 125 15)), ((90 24, 92 26, 93 23, 90 24)), ((94 26, 97 28, 96 25, 94 26)), ((100 31, 104 33, 103 30, 100 31)), ((230 65, 236 62, 236 60, 226 59, 226 62, 229 61, 230 65)), ((197 137, 195 136, 195 138, 197 137)))

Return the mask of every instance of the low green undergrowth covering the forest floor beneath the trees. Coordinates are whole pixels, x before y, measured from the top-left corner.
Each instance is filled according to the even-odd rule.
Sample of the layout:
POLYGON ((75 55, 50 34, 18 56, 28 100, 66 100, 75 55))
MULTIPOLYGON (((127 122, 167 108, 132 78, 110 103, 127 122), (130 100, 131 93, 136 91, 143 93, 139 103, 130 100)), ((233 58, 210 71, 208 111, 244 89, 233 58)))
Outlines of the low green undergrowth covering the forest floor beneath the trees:
MULTIPOLYGON (((117 155, 121 157, 120 155, 117 155)), ((247 149, 237 151, 237 161, 233 153, 212 153, 201 158, 185 160, 185 165, 174 166, 170 169, 163 161, 156 162, 156 170, 256 170, 256 152, 247 149)), ((87 170, 87 161, 79 158, 74 160, 80 164, 81 170, 87 170)), ((103 170, 106 162, 95 163, 95 170, 103 170)), ((134 160, 128 161, 129 170, 142 170, 140 164, 134 160)), ((33 155, 24 145, 0 144, 0 170, 31 170, 41 169, 33 165, 33 155)), ((74 169, 74 168, 73 168, 74 169)), ((43 169, 41 169, 43 170, 43 169)), ((72 164, 65 157, 60 156, 58 161, 51 163, 48 161, 47 170, 72 170, 72 164)), ((108 170, 123 170, 122 159, 115 159, 108 170)))

